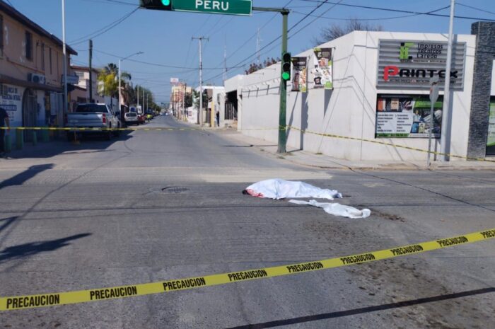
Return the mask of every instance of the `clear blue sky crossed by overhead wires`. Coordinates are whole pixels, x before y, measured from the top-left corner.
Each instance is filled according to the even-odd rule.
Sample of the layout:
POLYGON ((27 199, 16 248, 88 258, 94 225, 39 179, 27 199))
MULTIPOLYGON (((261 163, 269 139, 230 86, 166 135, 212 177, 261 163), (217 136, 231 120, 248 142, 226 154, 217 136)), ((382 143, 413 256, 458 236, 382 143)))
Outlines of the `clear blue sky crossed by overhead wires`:
MULTIPOLYGON (((1 0, 0 0, 1 1, 1 0)), ((5 1, 5 0, 4 0, 5 1)), ((337 0, 334 0, 337 1, 337 0)), ((35 21, 50 33, 62 38, 62 0, 8 0, 18 11, 35 21)), ((289 27, 309 13, 317 2, 303 0, 253 0, 254 6, 284 6, 289 4, 293 13, 289 15, 289 27)), ((88 35, 98 31, 110 23, 117 21, 136 8, 139 0, 66 0, 66 40, 78 51, 73 58, 77 65, 88 64, 88 35), (116 2, 113 2, 116 1, 116 2), (122 4, 127 3, 127 4, 122 4), (76 43, 83 40, 82 43, 76 43)), ((400 9, 406 11, 433 11, 448 6, 450 0, 343 0, 342 4, 357 4, 380 8, 400 9)), ((344 23, 335 18, 378 18, 370 23, 379 23, 383 30, 447 33, 448 18, 435 16, 412 16, 392 11, 378 11, 366 8, 348 6, 321 6, 315 15, 328 18, 318 18, 307 28, 289 40, 289 51, 301 52, 313 46, 313 37, 325 25, 344 23), (325 13, 327 11, 327 13, 325 13), (331 18, 331 19, 329 19, 331 18), (393 19, 388 19, 393 18, 393 19)), ((448 14, 446 8, 436 13, 448 14)), ((462 0, 456 6, 458 16, 471 16, 495 19, 494 0, 462 0), (461 4, 466 6, 461 6, 461 4), (484 12, 467 6, 480 8, 484 12)), ((313 21, 308 17, 292 32, 296 32, 305 24, 313 21)), ((456 19, 455 33, 470 33, 472 20, 456 19)), ((138 10, 120 25, 108 30, 102 35, 93 37, 93 65, 103 67, 109 62, 118 62, 119 57, 103 54, 107 52, 127 57, 134 52, 144 52, 132 59, 163 64, 156 67, 126 60, 122 62, 122 69, 132 74, 134 83, 142 84, 153 91, 157 103, 168 102, 170 95, 170 77, 177 77, 187 81, 189 85, 197 86, 199 74, 196 68, 199 65, 198 41, 192 41, 192 36, 204 35, 210 37, 204 44, 204 81, 205 83, 222 83, 223 51, 227 45, 228 67, 233 67, 246 57, 256 52, 257 28, 261 30, 261 46, 267 45, 281 33, 281 16, 274 13, 254 13, 252 17, 221 16, 204 13, 179 13, 168 11, 138 10), (252 38, 251 38, 252 37, 252 38), (250 39, 251 38, 251 39, 250 39), (234 53, 235 52, 235 53, 234 53), (219 68, 212 70, 211 68, 219 68), (214 78, 214 79, 212 79, 214 78)), ((289 35, 291 35, 289 33, 289 35)), ((267 47, 262 52, 262 59, 266 57, 280 57, 278 42, 267 47), (275 47, 276 46, 276 47, 275 47)), ((252 57, 253 62, 255 56, 252 57)), ((247 62, 249 64, 249 62, 247 62)), ((228 76, 242 73, 243 69, 231 69, 228 76)))

